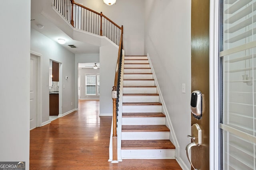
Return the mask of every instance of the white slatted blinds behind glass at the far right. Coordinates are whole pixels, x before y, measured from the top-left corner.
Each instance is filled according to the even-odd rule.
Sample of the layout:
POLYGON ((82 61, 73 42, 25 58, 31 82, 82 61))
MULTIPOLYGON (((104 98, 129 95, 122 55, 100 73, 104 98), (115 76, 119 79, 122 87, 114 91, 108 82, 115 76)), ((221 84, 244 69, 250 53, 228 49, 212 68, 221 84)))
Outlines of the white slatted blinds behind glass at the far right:
POLYGON ((222 168, 256 169, 256 0, 220 0, 222 168))

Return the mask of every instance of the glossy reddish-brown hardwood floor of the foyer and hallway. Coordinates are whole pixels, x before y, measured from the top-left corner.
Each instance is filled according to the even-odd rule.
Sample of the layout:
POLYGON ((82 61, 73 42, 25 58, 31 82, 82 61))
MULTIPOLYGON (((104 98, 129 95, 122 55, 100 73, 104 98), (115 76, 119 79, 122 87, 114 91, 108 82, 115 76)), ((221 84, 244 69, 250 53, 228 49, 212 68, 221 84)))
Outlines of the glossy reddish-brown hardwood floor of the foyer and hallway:
POLYGON ((108 162, 112 117, 99 117, 98 100, 30 131, 30 170, 181 170, 176 160, 108 162))

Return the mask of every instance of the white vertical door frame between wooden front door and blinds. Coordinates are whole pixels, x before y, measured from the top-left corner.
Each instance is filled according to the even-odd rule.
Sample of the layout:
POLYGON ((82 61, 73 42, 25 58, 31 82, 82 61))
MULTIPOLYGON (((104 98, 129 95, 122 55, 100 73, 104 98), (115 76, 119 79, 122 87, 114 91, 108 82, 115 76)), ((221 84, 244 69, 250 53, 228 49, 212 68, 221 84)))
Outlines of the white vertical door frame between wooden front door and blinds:
POLYGON ((218 51, 219 51, 219 0, 210 0, 210 49, 209 49, 209 66, 210 66, 210 95, 209 95, 209 126, 210 126, 210 170, 219 169, 219 99, 218 99, 218 51))

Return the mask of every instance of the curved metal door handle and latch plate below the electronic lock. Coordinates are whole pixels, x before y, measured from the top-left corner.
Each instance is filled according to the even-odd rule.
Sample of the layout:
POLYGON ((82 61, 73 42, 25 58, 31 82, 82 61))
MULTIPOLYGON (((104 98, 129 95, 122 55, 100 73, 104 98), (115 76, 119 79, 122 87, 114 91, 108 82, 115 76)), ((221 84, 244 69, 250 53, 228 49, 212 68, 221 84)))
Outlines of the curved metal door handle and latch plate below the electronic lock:
POLYGON ((195 123, 191 126, 191 135, 187 135, 187 137, 189 137, 190 139, 192 139, 192 143, 189 143, 186 146, 186 154, 188 157, 188 161, 191 164, 191 166, 194 168, 194 170, 197 170, 192 162, 191 162, 191 158, 190 158, 190 149, 194 146, 200 146, 202 144, 202 130, 200 129, 200 126, 195 123))

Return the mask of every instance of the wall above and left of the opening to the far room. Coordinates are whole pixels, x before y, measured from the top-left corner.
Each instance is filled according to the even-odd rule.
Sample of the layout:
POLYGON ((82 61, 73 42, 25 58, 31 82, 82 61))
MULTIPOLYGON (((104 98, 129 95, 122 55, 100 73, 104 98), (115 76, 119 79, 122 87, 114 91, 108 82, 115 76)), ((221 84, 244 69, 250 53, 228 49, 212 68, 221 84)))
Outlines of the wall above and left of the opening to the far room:
POLYGON ((78 108, 78 63, 99 63, 100 54, 76 54, 75 58, 75 107, 78 108))

